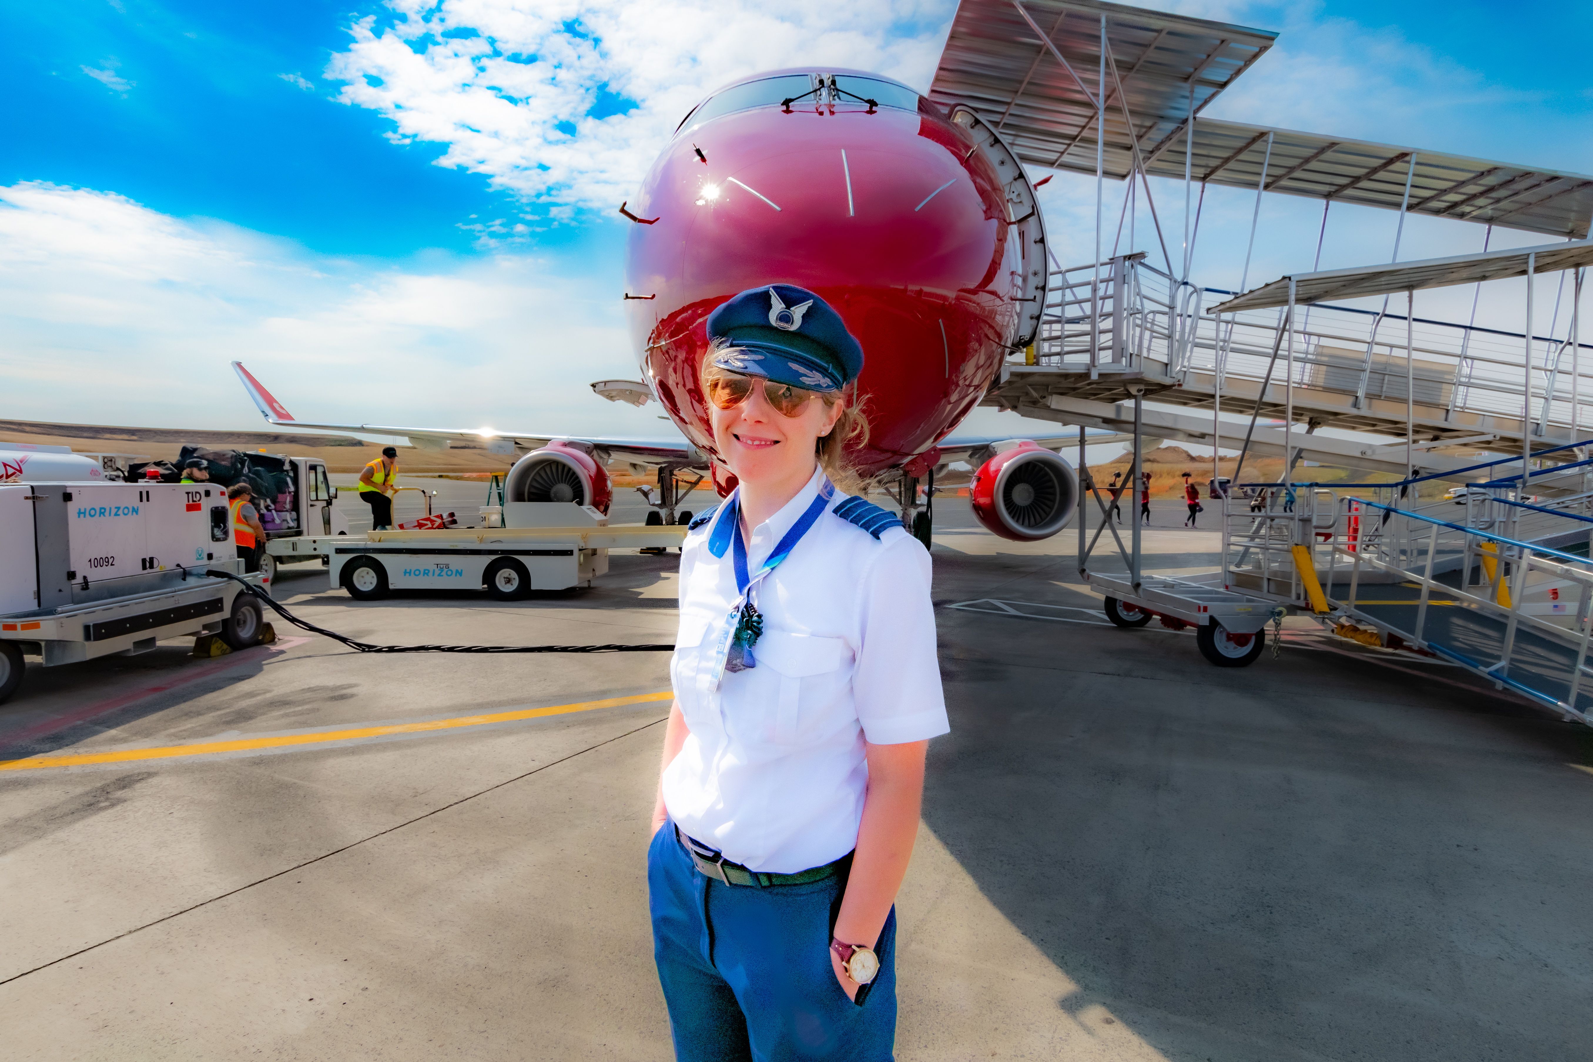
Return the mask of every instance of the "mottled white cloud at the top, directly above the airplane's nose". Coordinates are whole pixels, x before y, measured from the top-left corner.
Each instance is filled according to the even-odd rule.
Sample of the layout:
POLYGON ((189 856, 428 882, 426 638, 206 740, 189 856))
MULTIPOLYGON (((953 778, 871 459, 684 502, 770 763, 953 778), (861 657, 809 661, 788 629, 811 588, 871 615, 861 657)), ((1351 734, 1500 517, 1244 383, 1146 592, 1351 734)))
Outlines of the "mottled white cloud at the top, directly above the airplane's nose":
POLYGON ((951 0, 390 0, 325 76, 393 121, 393 140, 444 143, 441 166, 532 201, 612 210, 685 113, 720 84, 833 64, 927 88, 951 0), (601 103, 631 100, 594 116, 601 103))

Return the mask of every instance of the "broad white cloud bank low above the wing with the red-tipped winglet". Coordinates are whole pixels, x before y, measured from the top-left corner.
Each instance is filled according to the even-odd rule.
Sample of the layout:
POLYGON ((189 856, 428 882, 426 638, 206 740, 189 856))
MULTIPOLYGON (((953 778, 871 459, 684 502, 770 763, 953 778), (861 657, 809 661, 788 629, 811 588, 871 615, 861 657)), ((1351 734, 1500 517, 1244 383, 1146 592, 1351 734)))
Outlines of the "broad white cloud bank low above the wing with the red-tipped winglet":
POLYGON ((586 384, 634 377, 620 290, 567 263, 336 260, 126 197, 0 188, 0 417, 261 427, 237 358, 296 416, 664 438, 586 384))

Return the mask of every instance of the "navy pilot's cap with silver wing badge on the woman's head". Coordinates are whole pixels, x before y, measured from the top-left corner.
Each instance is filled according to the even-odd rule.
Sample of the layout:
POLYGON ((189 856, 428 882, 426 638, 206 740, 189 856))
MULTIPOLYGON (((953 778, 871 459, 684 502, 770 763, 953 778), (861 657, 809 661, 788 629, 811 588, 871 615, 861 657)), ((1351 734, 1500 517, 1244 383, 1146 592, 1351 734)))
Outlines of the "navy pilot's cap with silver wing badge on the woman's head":
POLYGON ((747 288, 707 315, 712 363, 806 390, 841 390, 863 371, 846 322, 808 288, 747 288))

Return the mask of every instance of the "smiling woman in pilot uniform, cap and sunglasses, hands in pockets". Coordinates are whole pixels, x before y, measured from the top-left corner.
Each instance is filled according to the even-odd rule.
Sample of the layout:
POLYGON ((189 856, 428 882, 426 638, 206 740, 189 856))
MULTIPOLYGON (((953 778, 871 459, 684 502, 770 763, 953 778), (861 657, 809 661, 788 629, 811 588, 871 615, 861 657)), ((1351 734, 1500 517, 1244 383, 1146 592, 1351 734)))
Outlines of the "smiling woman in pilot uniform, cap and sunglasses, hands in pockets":
POLYGON ((648 852, 675 1056, 890 1059, 894 903, 948 731, 929 552, 833 484, 867 438, 841 317, 776 283, 707 331, 714 447, 739 486, 680 556, 648 852))

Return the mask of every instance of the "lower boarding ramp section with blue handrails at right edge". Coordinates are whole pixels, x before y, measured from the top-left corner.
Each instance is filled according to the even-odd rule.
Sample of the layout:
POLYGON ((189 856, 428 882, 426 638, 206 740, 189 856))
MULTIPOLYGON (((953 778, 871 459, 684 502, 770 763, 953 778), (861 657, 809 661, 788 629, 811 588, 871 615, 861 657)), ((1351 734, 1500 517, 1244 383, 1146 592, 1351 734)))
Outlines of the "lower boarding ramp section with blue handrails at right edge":
POLYGON ((1415 498, 1431 478, 1247 484, 1225 503, 1222 583, 1593 724, 1593 495, 1569 490, 1588 462, 1547 473, 1560 489, 1547 498, 1520 459, 1488 478, 1502 465, 1427 503, 1415 498))

